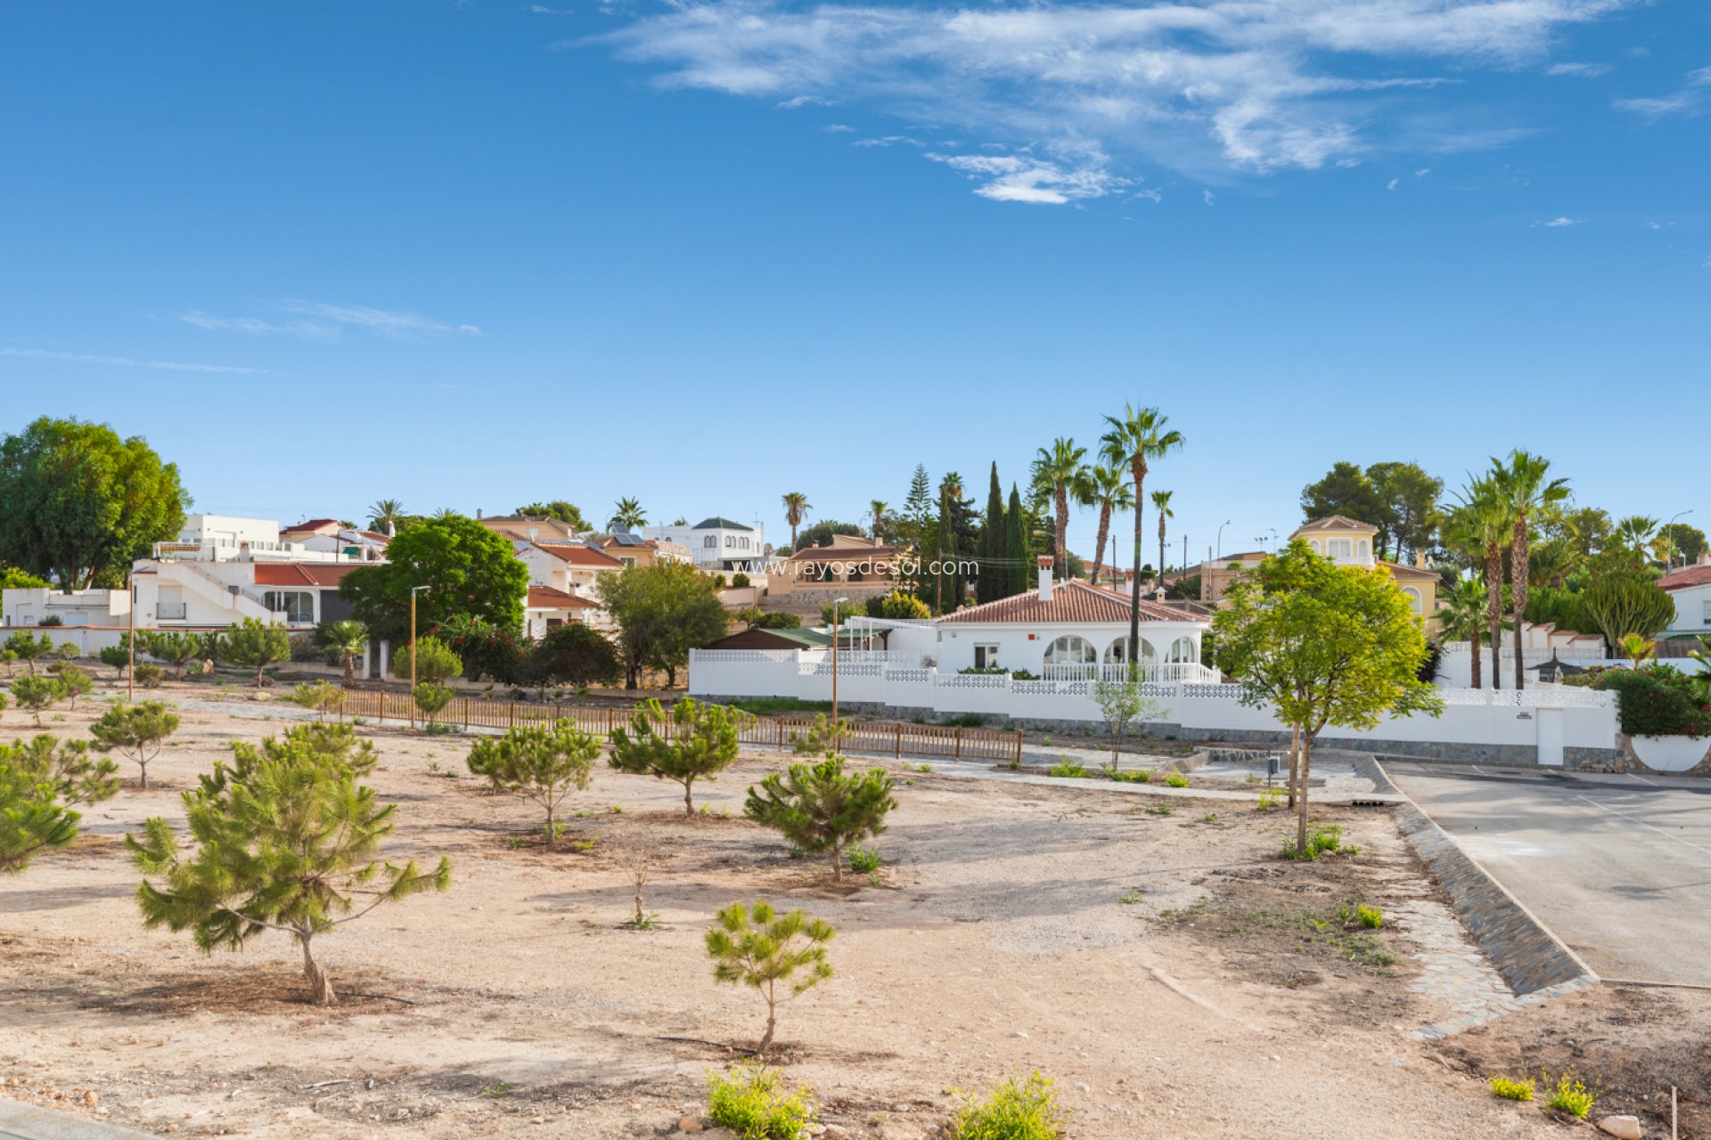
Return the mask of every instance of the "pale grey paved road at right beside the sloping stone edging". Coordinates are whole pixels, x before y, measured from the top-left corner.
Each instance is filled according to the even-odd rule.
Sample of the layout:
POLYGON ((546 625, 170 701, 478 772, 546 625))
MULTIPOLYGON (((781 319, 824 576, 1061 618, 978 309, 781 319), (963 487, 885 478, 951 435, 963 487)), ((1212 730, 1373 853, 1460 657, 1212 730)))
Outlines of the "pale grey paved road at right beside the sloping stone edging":
POLYGON ((1711 986, 1711 784, 1384 767, 1601 976, 1711 986))

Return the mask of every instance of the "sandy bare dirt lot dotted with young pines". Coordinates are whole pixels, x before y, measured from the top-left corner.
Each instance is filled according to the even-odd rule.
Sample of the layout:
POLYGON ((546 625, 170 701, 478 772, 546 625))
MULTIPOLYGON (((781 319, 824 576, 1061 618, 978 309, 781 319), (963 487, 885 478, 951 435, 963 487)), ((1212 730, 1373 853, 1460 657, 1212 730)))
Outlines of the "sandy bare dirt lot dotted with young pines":
MULTIPOLYGON (((62 716, 50 730, 80 735, 92 713, 62 716)), ((702 931, 719 906, 768 897, 838 930, 837 978, 780 1014, 779 1053, 833 1137, 936 1135, 950 1089, 1032 1068, 1057 1080, 1083 1140, 1560 1133, 1483 1089, 1494 1065, 1559 1065, 1533 1044, 1555 1037, 1509 1019, 1412 1041, 1449 1010, 1408 988, 1406 928, 1355 942, 1335 920, 1345 901, 1432 897, 1388 815, 1326 812, 1362 855, 1285 863, 1282 815, 1182 800, 1153 814, 1162 800, 1093 781, 898 773, 881 882, 833 887, 823 861, 741 819, 777 754, 703 784, 712 814, 693 819, 676 784, 602 769, 548 853, 530 805, 467 776, 467 740, 366 730, 382 754, 370 783, 400 805, 387 856, 447 855, 455 882, 318 940, 346 1000, 317 1008, 282 937, 207 957, 144 930, 120 843, 147 815, 176 819, 178 791, 229 740, 281 721, 186 709, 149 791, 128 783, 75 848, 0 885, 0 1090, 183 1135, 666 1135, 736 1056, 707 1043, 751 1044, 765 1019, 753 991, 713 984, 702 931), (647 931, 621 926, 614 848, 636 829, 666 849, 648 890, 662 926, 647 931)), ((26 732, 9 711, 0 738, 26 732)), ((1665 1008, 1682 1049, 1706 1037, 1704 1008, 1624 1000, 1627 1020, 1598 1025, 1612 1043, 1665 1008)))

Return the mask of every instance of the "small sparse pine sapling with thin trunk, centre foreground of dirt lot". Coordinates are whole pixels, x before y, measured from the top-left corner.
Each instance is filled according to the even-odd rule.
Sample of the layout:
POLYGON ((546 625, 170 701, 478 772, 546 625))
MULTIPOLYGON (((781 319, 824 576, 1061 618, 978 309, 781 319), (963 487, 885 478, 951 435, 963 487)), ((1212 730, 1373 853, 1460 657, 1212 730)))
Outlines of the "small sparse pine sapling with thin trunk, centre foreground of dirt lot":
POLYGON ((707 957, 713 959, 713 981, 749 986, 767 1000, 767 1032, 758 1053, 772 1048, 779 1005, 832 978, 826 943, 833 933, 832 923, 799 909, 779 916, 761 899, 753 908, 732 902, 719 911, 707 931, 707 957))

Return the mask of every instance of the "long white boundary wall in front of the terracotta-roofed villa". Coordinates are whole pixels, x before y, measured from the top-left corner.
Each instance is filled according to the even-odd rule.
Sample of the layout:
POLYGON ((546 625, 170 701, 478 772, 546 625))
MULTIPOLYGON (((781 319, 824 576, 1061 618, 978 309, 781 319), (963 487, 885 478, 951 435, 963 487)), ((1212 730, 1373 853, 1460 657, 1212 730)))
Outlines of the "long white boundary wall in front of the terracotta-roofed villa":
MULTIPOLYGON (((939 673, 897 667, 867 655, 838 655, 838 701, 898 713, 980 713, 1020 721, 1102 723, 1092 682, 1013 680, 1008 673, 939 673)), ((879 655, 873 655, 878 658, 879 655)), ((1240 685, 1152 684, 1163 723, 1184 735, 1254 738, 1287 733, 1270 708, 1242 704, 1240 685)), ((690 694, 708 697, 796 697, 828 701, 832 663, 821 651, 698 649, 690 655, 690 694)), ((1444 714, 1386 718, 1371 732, 1326 728, 1321 743, 1371 745, 1441 759, 1562 764, 1607 759, 1617 747, 1615 696, 1566 685, 1441 689, 1444 714), (1540 745, 1545 745, 1543 749, 1540 745)))

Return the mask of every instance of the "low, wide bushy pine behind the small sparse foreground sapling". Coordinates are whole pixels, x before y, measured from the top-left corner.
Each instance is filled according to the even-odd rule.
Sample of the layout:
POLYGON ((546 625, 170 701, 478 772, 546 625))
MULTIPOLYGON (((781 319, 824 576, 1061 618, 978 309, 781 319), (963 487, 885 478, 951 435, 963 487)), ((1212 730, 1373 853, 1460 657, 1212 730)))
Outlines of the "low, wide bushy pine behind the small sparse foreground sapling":
POLYGON ((818 764, 792 764, 761 779, 749 788, 743 814, 802 851, 830 851, 832 879, 842 880, 844 848, 883 834, 893 807, 891 778, 883 769, 845 774, 844 757, 828 754, 818 764))

